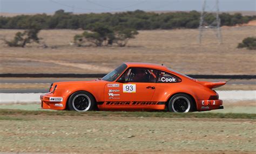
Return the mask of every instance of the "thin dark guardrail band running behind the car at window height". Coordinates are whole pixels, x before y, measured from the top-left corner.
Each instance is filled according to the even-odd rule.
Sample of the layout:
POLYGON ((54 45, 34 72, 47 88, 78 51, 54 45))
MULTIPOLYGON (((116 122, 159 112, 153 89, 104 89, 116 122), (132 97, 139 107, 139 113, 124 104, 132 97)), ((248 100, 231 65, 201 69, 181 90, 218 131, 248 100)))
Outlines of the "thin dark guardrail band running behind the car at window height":
MULTIPOLYGON (((106 74, 0 74, 0 78, 102 78, 106 74)), ((195 79, 256 79, 256 75, 188 74, 195 79)))

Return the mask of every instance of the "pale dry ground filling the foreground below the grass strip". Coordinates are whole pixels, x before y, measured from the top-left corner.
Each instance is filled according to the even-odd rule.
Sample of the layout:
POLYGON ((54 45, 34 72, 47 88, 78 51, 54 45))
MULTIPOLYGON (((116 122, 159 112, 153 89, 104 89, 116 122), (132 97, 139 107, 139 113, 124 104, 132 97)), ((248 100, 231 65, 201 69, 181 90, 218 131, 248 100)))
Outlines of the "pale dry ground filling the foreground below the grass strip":
POLYGON ((1 121, 2 152, 256 151, 255 120, 42 115, 19 118, 26 120, 1 121))

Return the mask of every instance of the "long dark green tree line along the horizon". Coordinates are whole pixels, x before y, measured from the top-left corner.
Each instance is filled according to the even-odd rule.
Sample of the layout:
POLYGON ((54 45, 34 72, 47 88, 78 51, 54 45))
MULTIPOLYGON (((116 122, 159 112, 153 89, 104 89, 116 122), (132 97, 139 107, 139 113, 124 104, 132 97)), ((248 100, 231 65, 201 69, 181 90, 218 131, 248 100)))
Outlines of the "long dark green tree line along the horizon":
MULTIPOLYGON (((256 16, 242 16, 241 13, 220 13, 221 26, 233 26, 248 23, 256 16)), ((154 29, 197 29, 200 12, 168 12, 154 13, 142 10, 120 13, 88 13, 75 15, 72 12, 58 10, 54 15, 19 15, 15 17, 0 17, 0 29, 83 29, 91 30, 97 24, 108 27, 124 27, 125 29, 154 30, 154 29)), ((215 20, 213 13, 206 13, 207 23, 215 20)), ((205 25, 207 26, 207 25, 205 25)))

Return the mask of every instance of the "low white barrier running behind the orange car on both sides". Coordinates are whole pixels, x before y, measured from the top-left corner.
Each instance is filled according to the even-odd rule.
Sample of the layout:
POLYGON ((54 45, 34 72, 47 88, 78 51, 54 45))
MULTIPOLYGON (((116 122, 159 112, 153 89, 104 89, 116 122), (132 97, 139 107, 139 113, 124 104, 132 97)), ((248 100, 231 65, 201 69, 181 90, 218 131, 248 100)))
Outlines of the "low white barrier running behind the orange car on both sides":
MULTIPOLYGON (((256 101, 256 90, 217 91, 224 101, 256 101)), ((33 103, 40 102, 43 93, 0 93, 0 103, 33 103)))

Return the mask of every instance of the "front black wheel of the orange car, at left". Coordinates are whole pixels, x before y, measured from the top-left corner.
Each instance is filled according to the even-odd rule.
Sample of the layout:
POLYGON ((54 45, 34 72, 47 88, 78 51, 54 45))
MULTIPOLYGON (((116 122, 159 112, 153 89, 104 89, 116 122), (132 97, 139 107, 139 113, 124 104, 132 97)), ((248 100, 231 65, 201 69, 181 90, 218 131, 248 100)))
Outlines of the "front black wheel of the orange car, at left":
POLYGON ((68 106, 70 110, 76 110, 78 112, 85 112, 94 110, 96 107, 96 102, 94 97, 84 91, 79 91, 73 93, 68 101, 68 106))

